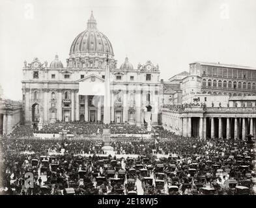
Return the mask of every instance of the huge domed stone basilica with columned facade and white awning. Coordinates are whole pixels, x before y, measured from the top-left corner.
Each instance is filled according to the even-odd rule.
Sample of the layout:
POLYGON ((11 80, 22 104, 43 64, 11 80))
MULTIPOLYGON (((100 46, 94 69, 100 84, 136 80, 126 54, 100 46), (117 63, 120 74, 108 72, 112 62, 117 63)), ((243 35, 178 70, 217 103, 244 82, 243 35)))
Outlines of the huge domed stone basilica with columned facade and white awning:
POLYGON ((98 31, 93 14, 72 42, 66 66, 57 55, 50 66, 38 58, 25 61, 21 82, 26 124, 103 122, 104 116, 115 123, 158 124, 162 101, 158 64, 149 60, 135 68, 126 57, 118 67, 111 42, 98 31), (106 81, 109 95, 104 92, 106 81), (106 105, 109 113, 104 114, 106 105))

